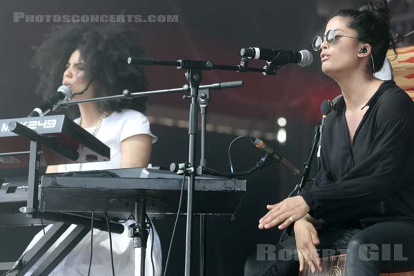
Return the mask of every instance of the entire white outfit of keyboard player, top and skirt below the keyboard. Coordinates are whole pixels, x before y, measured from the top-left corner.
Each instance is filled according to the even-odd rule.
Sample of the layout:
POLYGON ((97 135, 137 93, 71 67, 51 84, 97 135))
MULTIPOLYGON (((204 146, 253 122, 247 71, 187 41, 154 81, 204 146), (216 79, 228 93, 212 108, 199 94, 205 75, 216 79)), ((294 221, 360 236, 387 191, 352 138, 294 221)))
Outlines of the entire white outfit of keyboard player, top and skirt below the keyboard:
MULTIPOLYGON (((79 123, 79 118, 75 119, 79 123)), ((92 133, 95 128, 86 128, 88 132, 92 133)), ((157 141, 157 137, 152 135, 150 131, 150 123, 148 119, 141 112, 135 110, 123 110, 122 112, 112 112, 112 114, 101 123, 101 127, 97 132, 96 137, 104 144, 110 147, 110 161, 106 162, 92 162, 82 164, 81 170, 105 170, 109 168, 121 167, 121 141, 133 135, 146 134, 152 138, 152 143, 157 141)), ((69 164, 67 166, 59 165, 58 172, 79 171, 79 164, 69 164)), ((132 224, 133 221, 127 221, 124 227, 132 224)), ((52 225, 47 226, 49 230, 52 225)), ((75 228, 75 225, 70 226, 68 230, 57 240, 52 246, 55 248, 61 242, 63 237, 68 235, 70 231, 75 228)), ((26 251, 32 248, 34 244, 42 237, 43 230, 39 232, 32 242, 30 242, 26 251)), ((151 264, 151 240, 154 235, 153 259, 155 266, 155 275, 161 275, 161 243, 159 236, 155 230, 148 236, 147 250, 146 250, 146 275, 152 276, 151 264)), ((112 233, 112 252, 114 259, 115 275, 134 275, 135 269, 135 251, 132 248, 132 238, 128 237, 125 230, 122 234, 112 233)), ((79 276, 88 275, 90 259, 90 233, 88 233, 75 248, 66 256, 62 262, 50 273, 50 275, 64 275, 64 276, 79 276)), ((33 266, 26 275, 31 275, 32 271, 37 267, 33 266)), ((109 235, 106 231, 98 229, 93 230, 93 255, 90 275, 112 276, 112 268, 110 262, 110 244, 109 235)))

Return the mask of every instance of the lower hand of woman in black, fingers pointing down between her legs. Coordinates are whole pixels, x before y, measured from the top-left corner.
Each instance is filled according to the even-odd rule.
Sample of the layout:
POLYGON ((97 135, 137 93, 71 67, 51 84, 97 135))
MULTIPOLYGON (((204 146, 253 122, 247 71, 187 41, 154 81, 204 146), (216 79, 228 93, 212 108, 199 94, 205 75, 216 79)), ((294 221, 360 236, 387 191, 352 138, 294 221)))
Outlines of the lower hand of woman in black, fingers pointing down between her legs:
POLYGON ((316 268, 319 268, 319 271, 322 272, 324 268, 316 249, 320 242, 315 226, 305 216, 295 221, 293 229, 295 230, 297 255, 299 257, 299 271, 304 269, 304 262, 307 262, 312 273, 316 272, 316 268))

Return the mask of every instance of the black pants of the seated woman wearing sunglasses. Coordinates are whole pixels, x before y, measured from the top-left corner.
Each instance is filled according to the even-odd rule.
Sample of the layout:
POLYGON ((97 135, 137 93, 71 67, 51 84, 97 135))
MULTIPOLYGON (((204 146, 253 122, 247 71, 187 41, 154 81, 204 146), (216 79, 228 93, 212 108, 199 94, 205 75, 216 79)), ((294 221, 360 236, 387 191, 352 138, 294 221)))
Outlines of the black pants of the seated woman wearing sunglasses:
MULTIPOLYGON (((328 230, 319 234, 319 255, 346 253, 346 275, 371 276, 414 270, 414 223, 384 221, 364 230, 328 230)), ((276 245, 257 245, 244 276, 298 275, 295 238, 276 245)))

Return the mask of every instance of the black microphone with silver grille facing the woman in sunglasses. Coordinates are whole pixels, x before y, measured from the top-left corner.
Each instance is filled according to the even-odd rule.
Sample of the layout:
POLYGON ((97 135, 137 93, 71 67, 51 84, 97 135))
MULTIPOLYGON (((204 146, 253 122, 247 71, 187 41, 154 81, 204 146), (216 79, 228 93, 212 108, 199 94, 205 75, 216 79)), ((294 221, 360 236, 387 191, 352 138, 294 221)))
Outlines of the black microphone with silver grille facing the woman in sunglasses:
POLYGON ((313 55, 308 50, 291 51, 291 50, 273 50, 258 47, 242 48, 240 50, 242 57, 249 59, 262 59, 271 62, 277 66, 286 63, 297 63, 299 66, 307 67, 313 62, 313 55))

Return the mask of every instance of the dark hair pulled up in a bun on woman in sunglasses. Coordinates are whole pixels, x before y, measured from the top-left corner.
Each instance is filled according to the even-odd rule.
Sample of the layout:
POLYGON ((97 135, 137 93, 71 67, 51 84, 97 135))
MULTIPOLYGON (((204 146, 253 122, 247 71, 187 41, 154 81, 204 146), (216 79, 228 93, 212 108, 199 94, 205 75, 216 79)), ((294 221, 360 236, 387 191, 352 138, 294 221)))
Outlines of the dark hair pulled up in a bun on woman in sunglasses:
POLYGON ((362 43, 371 45, 371 55, 375 68, 368 62, 371 72, 379 71, 384 65, 386 52, 390 45, 395 55, 395 40, 390 32, 390 10, 386 0, 369 0, 359 10, 339 10, 331 15, 333 17, 346 17, 349 19, 348 27, 357 32, 362 43))

